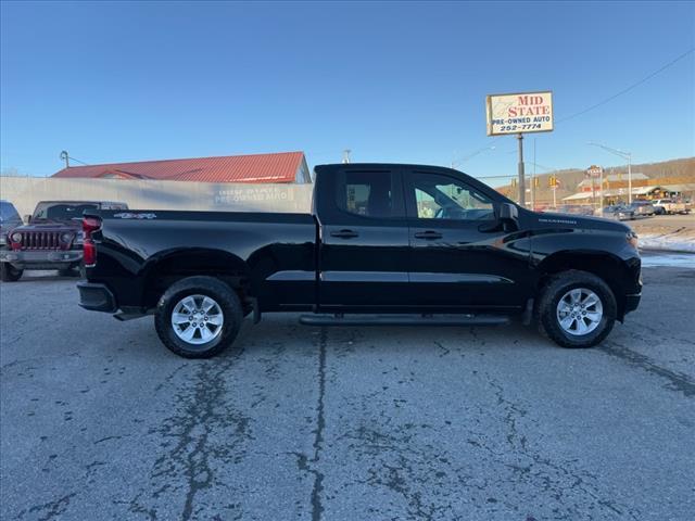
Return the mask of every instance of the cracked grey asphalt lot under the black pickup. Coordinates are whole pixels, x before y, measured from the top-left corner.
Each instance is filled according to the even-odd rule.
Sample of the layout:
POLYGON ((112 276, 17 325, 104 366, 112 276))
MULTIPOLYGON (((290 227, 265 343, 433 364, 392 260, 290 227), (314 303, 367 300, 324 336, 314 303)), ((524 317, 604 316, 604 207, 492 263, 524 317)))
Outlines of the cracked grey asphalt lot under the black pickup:
POLYGON ((0 287, 2 520, 692 520, 695 269, 603 346, 250 320, 185 360, 75 280, 0 287))

